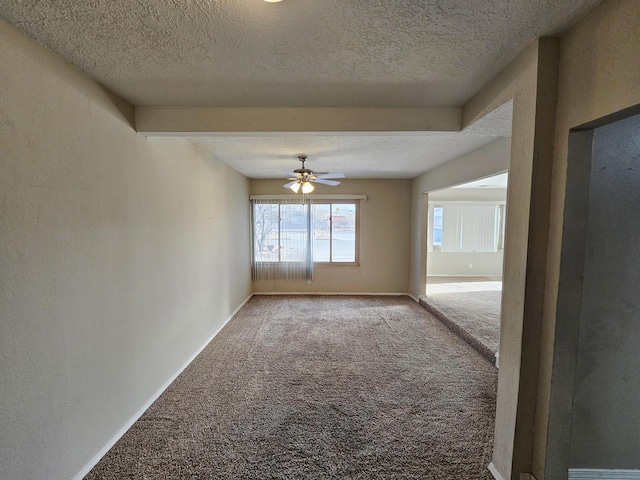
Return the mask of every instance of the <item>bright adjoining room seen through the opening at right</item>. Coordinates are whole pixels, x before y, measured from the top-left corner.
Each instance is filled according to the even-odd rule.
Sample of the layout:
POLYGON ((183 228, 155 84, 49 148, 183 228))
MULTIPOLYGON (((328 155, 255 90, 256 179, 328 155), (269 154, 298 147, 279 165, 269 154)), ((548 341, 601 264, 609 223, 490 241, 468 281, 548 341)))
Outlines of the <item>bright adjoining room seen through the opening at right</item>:
POLYGON ((429 192, 427 292, 420 303, 499 364, 508 174, 429 192))

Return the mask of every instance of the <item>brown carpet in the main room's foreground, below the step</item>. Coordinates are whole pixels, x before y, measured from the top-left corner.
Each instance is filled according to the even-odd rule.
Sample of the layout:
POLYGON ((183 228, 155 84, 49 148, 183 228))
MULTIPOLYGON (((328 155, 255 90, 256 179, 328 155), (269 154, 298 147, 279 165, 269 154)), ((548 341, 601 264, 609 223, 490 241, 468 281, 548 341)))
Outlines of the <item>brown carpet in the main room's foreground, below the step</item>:
POLYGON ((85 478, 490 479, 496 380, 408 297, 254 296, 85 478))

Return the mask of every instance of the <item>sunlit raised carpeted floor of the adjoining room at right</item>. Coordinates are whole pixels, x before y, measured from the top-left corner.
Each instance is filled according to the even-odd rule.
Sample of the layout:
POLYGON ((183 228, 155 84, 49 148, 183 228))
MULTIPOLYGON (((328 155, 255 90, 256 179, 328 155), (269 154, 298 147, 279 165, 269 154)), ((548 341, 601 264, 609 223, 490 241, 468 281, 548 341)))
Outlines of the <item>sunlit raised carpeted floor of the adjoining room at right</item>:
POLYGON ((502 282, 489 277, 428 277, 420 303, 487 359, 500 345, 502 282))

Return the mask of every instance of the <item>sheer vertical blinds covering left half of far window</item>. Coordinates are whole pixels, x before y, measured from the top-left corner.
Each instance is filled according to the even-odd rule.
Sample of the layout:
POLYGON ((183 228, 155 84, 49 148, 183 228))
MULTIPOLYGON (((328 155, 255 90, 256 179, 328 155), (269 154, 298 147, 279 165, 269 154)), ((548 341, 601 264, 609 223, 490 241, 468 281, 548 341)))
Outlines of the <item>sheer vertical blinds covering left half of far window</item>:
POLYGON ((305 196, 252 199, 254 280, 313 278, 311 200, 305 196))

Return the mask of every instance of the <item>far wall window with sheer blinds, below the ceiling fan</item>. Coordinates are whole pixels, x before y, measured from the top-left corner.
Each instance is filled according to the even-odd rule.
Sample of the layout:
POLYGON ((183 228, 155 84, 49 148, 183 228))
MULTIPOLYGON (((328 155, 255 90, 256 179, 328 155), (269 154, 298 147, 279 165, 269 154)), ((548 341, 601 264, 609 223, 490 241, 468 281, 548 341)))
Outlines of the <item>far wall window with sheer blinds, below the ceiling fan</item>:
POLYGON ((254 279, 310 280, 314 263, 357 264, 358 207, 357 200, 252 199, 254 279))

